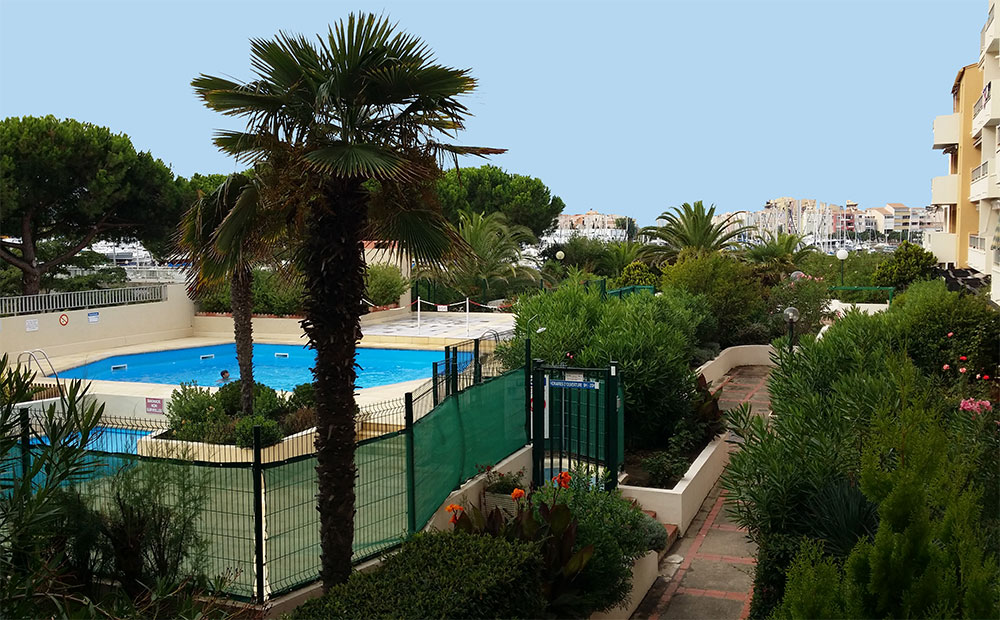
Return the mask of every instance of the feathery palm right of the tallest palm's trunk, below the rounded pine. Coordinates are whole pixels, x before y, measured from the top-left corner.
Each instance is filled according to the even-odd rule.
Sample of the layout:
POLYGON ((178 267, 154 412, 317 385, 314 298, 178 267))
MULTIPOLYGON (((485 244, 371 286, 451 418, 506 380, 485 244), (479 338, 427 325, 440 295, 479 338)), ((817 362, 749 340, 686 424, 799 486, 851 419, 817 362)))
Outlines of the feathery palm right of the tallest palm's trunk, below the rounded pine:
POLYGON ((499 211, 483 215, 459 212, 458 235, 466 248, 455 258, 435 265, 427 275, 457 289, 463 295, 485 295, 497 284, 538 281, 538 271, 522 265, 521 246, 535 237, 525 226, 510 226, 499 211))

